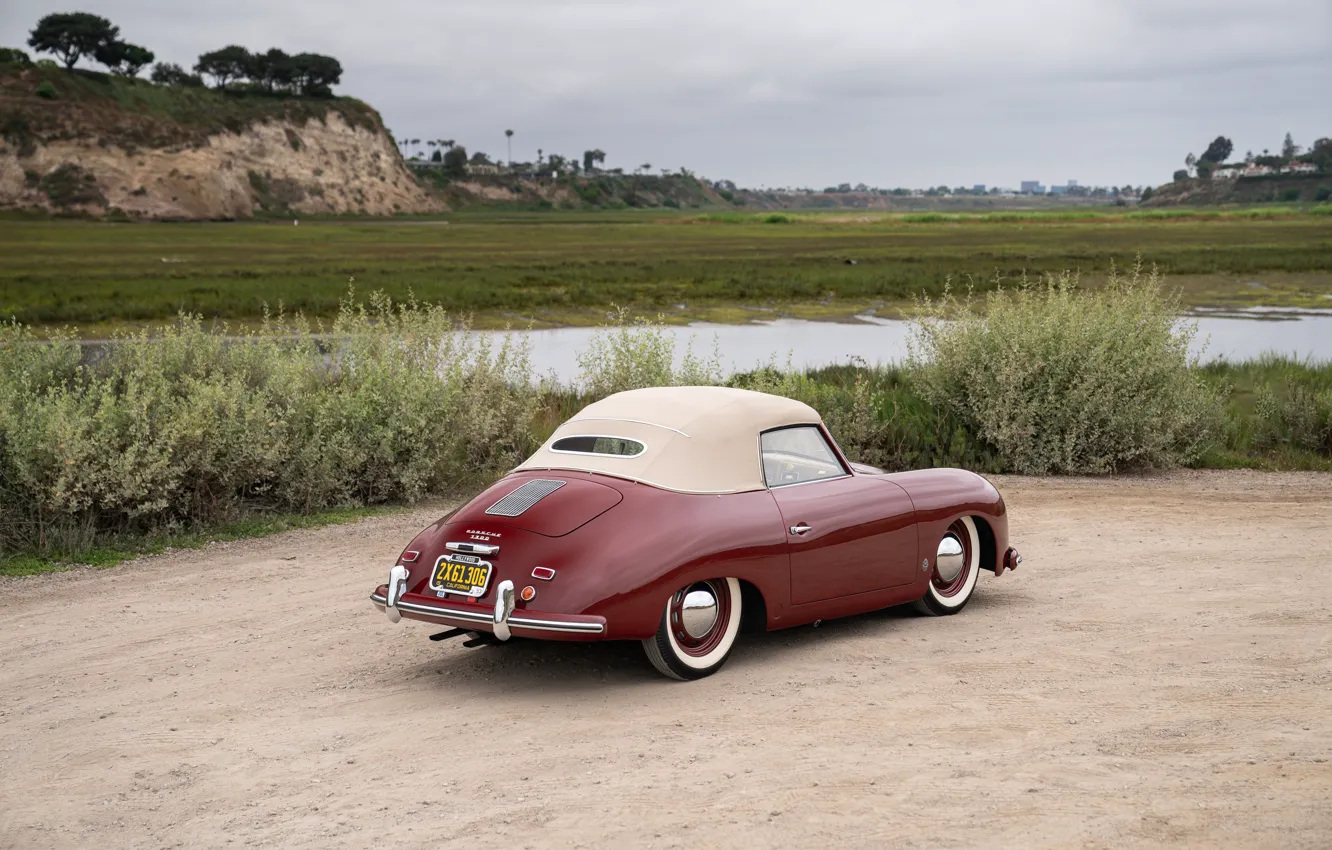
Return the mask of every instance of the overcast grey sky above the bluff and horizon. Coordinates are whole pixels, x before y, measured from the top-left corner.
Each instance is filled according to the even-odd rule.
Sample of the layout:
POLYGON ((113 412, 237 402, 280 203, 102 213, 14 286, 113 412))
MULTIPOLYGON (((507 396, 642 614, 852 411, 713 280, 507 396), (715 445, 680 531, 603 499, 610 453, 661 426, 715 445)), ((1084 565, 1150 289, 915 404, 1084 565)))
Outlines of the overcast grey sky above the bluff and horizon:
POLYGON ((1219 133, 1332 136, 1328 0, 0 0, 0 45, 75 9, 186 67, 330 53, 400 137, 753 187, 1159 184, 1219 133))

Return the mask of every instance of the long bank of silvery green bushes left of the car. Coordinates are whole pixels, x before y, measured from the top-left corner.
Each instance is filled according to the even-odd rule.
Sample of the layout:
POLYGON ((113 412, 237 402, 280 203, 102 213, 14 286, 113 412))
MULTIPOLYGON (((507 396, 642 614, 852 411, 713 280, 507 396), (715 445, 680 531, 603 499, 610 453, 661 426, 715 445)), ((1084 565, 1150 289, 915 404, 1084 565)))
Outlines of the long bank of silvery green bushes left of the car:
POLYGON ((81 365, 67 337, 0 329, 0 544, 253 512, 412 502, 534 446, 529 352, 442 309, 350 298, 328 328, 228 336, 181 317, 81 365))

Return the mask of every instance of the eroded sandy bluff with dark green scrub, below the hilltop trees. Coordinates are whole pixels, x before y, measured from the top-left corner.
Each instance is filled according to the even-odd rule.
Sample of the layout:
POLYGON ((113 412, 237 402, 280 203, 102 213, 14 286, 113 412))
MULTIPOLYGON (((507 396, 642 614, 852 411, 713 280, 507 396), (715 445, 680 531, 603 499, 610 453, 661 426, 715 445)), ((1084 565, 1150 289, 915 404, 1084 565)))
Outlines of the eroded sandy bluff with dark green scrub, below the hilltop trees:
POLYGON ((0 208, 131 218, 441 209, 350 97, 0 65, 0 208))

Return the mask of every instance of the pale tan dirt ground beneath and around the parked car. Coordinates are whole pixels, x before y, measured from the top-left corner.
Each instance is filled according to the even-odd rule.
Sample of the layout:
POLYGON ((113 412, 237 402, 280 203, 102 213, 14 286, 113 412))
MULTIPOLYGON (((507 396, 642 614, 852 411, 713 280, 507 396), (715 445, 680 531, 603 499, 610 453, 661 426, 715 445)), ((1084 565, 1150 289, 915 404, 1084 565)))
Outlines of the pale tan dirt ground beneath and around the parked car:
POLYGON ((464 649, 436 510, 0 585, 0 847, 1328 847, 1332 476, 996 481, 958 617, 464 649))

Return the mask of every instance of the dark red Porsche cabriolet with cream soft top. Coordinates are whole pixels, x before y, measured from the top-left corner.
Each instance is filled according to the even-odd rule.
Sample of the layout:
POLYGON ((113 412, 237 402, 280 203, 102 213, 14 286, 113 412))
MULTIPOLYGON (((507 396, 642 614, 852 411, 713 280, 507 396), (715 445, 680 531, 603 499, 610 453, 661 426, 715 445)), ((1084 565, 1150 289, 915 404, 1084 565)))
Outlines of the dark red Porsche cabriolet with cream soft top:
POLYGON ((450 626, 437 639, 642 641, 693 679, 742 625, 955 614, 980 570, 1020 562, 980 476, 850 464, 809 405, 682 386, 589 405, 418 534, 370 598, 393 622, 450 626))

